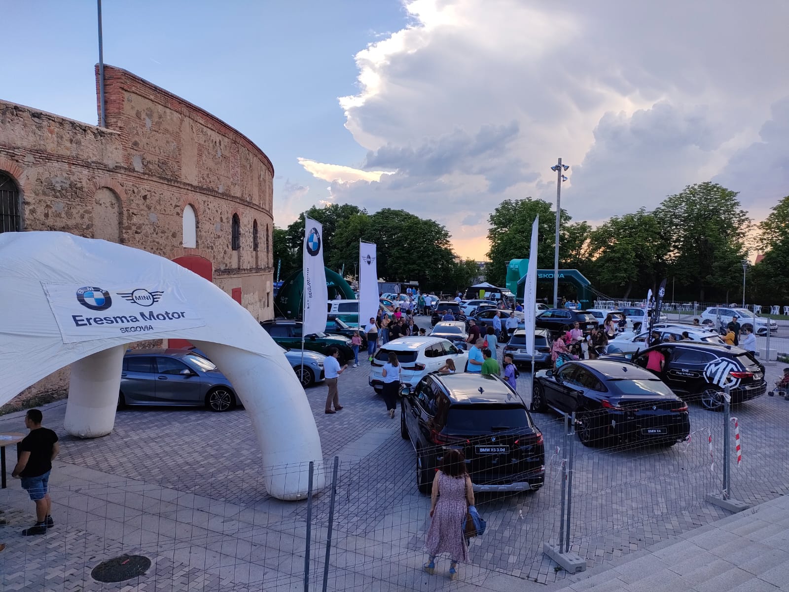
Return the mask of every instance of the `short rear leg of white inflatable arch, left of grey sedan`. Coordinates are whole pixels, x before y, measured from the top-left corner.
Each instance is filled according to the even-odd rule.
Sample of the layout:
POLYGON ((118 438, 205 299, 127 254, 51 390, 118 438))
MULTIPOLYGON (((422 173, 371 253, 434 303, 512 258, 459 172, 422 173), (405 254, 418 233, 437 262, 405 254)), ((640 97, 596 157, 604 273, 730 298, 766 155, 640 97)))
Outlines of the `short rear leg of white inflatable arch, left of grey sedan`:
POLYGON ((112 431, 125 350, 125 345, 110 347, 71 365, 69 401, 63 418, 66 432, 97 438, 112 431))

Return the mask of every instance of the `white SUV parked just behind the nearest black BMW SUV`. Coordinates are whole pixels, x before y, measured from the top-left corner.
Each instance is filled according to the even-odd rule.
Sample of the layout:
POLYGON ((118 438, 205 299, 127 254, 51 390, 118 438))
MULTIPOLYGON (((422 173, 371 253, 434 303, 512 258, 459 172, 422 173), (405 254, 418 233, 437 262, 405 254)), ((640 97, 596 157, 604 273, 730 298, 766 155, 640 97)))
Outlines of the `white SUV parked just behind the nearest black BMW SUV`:
POLYGON ((442 337, 400 337, 393 339, 381 346, 372 358, 368 384, 376 391, 383 389, 383 365, 389 361, 389 352, 397 355, 400 363, 400 381, 409 386, 416 386, 417 382, 429 373, 436 372, 447 363, 447 359, 454 361, 458 372, 463 372, 469 354, 454 347, 448 339, 442 337))

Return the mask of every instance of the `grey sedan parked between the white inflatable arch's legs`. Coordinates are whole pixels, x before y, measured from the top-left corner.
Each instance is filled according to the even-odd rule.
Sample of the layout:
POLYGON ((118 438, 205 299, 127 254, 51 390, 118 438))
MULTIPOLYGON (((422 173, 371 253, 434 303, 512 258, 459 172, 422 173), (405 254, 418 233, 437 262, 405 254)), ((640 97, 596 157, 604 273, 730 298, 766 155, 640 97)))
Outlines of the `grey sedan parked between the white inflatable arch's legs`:
POLYGON ((193 351, 129 350, 123 357, 118 407, 204 405, 226 411, 240 403, 230 380, 193 351))

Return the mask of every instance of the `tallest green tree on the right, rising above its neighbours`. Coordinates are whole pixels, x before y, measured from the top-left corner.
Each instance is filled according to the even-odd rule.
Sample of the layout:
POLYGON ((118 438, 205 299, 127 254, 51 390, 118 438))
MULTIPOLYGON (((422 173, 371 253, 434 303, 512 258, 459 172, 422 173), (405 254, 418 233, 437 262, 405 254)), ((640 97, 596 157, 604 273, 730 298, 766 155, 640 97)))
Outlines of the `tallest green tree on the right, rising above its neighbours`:
POLYGON ((712 182, 688 185, 668 196, 655 210, 662 234, 671 245, 671 273, 692 287, 698 299, 715 290, 728 301, 739 285, 740 261, 746 255, 745 237, 750 219, 737 192, 712 182))

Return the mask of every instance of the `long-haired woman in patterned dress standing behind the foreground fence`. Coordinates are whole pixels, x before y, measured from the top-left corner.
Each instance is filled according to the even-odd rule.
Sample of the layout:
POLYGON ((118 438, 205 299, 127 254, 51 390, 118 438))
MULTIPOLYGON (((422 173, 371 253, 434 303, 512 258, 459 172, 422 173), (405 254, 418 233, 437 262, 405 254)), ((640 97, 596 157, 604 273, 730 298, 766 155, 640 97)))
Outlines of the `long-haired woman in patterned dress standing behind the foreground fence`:
POLYGON ((458 561, 469 560, 469 545, 463 532, 463 523, 474 505, 471 478, 466 473, 466 458, 462 451, 450 449, 444 452, 441 468, 433 479, 430 498, 430 528, 425 546, 428 563, 424 571, 436 571, 436 556, 449 553, 450 579, 458 575, 458 561))

